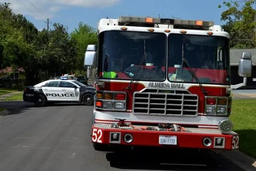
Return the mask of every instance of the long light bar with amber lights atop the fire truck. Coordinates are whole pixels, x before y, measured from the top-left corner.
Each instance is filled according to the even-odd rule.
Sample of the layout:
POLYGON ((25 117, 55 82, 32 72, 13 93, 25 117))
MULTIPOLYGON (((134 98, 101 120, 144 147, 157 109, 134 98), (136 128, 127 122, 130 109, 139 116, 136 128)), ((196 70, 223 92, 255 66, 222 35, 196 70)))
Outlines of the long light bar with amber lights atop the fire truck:
POLYGON ((202 21, 202 20, 184 20, 184 19, 171 19, 171 18, 131 17, 131 16, 120 16, 119 22, 121 22, 121 23, 183 25, 183 26, 187 25, 187 26, 201 26, 201 27, 214 26, 214 22, 206 22, 206 21, 202 21))

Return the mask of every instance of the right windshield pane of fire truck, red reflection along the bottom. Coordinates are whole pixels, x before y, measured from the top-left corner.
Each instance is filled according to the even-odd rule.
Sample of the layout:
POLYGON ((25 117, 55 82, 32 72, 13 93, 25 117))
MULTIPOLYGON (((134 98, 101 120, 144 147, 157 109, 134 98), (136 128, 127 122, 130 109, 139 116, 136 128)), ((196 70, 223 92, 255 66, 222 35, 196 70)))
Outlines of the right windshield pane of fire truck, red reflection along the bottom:
POLYGON ((226 37, 169 34, 168 80, 198 83, 182 63, 184 55, 201 83, 229 84, 228 44, 226 37))

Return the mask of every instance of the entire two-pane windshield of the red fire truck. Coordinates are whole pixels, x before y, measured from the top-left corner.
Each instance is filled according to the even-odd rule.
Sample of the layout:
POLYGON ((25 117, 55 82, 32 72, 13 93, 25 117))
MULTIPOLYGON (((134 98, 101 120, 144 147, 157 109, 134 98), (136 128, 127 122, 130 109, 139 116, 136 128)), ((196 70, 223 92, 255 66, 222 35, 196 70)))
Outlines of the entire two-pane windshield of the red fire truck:
POLYGON ((224 36, 104 31, 98 53, 99 78, 164 81, 167 76, 170 82, 229 84, 229 40, 224 36), (199 81, 183 66, 182 55, 199 81))

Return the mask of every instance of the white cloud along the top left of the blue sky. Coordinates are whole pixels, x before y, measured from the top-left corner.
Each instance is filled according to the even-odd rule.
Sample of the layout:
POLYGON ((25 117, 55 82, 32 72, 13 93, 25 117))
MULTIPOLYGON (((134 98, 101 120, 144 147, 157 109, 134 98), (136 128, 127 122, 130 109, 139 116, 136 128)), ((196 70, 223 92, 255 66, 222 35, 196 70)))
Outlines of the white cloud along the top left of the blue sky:
POLYGON ((11 3, 11 8, 23 15, 31 15, 35 19, 53 17, 57 12, 69 6, 106 8, 121 0, 0 0, 0 3, 11 3), (36 7, 34 7, 34 6, 36 7))

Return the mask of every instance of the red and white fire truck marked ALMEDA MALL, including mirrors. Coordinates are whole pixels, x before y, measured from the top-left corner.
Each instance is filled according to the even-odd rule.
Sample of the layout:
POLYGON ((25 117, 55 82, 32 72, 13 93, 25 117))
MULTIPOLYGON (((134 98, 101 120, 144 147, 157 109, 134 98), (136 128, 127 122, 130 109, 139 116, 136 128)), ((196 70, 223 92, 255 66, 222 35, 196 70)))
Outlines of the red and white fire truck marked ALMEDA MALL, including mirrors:
MULTIPOLYGON (((96 150, 239 148, 229 120, 229 34, 214 22, 102 18, 98 45, 88 46, 84 68, 97 68, 91 135, 96 150)), ((251 54, 243 53, 238 75, 246 80, 251 70, 251 54)))

